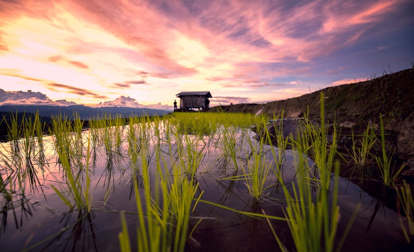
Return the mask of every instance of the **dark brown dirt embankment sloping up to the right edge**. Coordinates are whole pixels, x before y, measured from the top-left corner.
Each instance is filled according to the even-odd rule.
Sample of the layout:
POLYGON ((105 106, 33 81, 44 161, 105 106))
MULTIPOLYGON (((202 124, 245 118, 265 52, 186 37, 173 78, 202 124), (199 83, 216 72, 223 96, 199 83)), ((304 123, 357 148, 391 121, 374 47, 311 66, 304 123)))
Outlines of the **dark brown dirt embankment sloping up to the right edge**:
POLYGON ((266 104, 235 104, 219 108, 224 112, 266 114, 269 117, 320 119, 320 93, 324 92, 325 119, 343 124, 343 134, 353 126, 361 133, 367 125, 379 125, 383 116, 387 148, 414 168, 414 68, 353 84, 327 87, 296 98, 266 104))

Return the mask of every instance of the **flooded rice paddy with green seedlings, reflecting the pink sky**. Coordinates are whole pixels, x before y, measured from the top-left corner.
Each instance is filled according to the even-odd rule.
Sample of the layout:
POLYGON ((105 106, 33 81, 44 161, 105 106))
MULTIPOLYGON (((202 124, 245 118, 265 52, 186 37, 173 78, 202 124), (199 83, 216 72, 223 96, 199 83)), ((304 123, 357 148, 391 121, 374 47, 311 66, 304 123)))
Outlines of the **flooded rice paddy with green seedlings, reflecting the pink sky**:
MULTIPOLYGON (((166 228, 167 240, 173 245, 166 248, 176 250, 178 242, 171 233, 178 232, 177 223, 185 217, 178 217, 173 207, 165 211, 164 206, 174 202, 163 198, 165 188, 173 190, 173 184, 184 198, 183 180, 194 186, 194 195, 185 207, 189 217, 183 224, 184 238, 178 238, 184 247, 177 250, 297 251, 285 215, 286 191, 294 195, 297 184, 307 179, 310 197, 317 201, 324 189, 298 174, 300 167, 315 169, 312 159, 295 149, 279 150, 256 141, 250 121, 230 126, 206 119, 205 128, 194 128, 191 121, 197 119, 138 120, 2 143, 1 251, 120 251, 121 213, 131 251, 143 243, 137 233, 150 233, 149 216, 166 214, 168 220, 156 226, 171 226, 166 228), (252 174, 266 168, 258 178, 262 190, 254 196, 252 174), (137 210, 137 199, 143 214, 137 210), (155 213, 149 215, 151 210, 155 213)), ((331 209, 336 198, 334 248, 351 227, 342 251, 413 249, 403 234, 401 221, 407 220, 393 205, 395 193, 390 193, 394 198, 388 204, 387 193, 373 198, 351 180, 339 177, 334 185, 333 170, 330 177, 328 203, 316 207, 331 209)), ((155 242, 150 235, 147 240, 155 242)))

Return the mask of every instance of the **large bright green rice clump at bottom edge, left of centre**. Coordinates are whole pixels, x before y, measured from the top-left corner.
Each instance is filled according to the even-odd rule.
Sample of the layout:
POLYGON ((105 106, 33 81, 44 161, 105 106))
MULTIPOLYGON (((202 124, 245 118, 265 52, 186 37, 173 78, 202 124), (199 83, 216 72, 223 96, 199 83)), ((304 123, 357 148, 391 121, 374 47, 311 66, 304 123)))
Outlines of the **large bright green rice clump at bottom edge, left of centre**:
MULTIPOLYGON (((136 177, 133 178, 139 221, 137 250, 140 252, 182 252, 188 235, 191 204, 198 185, 183 177, 183 170, 179 167, 173 167, 173 174, 168 175, 169 178, 164 178, 158 157, 157 170, 160 184, 155 185, 155 197, 151 197, 150 178, 146 163, 142 167, 143 188, 139 189, 136 177), (159 190, 161 190, 161 198, 158 196, 159 190), (141 197, 143 197, 144 203, 141 202, 141 197)), ((168 171, 166 172, 168 174, 168 171)), ((194 208, 195 206, 192 210, 194 208)), ((130 251, 126 221, 122 215, 121 218, 120 247, 122 251, 130 251)))

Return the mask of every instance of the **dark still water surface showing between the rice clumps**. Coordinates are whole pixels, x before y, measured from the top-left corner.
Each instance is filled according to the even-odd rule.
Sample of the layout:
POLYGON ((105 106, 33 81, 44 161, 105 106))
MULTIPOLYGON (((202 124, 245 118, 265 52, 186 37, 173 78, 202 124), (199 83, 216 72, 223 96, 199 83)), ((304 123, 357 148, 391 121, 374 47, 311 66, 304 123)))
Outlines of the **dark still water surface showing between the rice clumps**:
MULTIPOLYGON (((85 132, 87 134, 87 132, 85 132)), ((248 135, 252 137, 253 133, 248 135)), ((85 137, 86 138, 86 137, 85 137)), ((252 139, 252 138, 251 138, 252 139)), ((205 138, 208 147, 199 150, 204 152, 202 164, 198 168, 196 179, 199 182, 199 192, 203 191, 202 199, 212 203, 227 206, 236 210, 262 213, 283 217, 284 194, 282 188, 275 185, 267 189, 266 197, 260 202, 249 195, 243 180, 229 180, 225 177, 240 175, 231 164, 219 159, 222 150, 217 148, 214 141, 205 138)), ((211 140, 211 139, 210 139, 211 140)), ((255 142, 255 140, 252 139, 255 142)), ((37 169, 38 182, 36 185, 24 182, 24 190, 14 187, 15 193, 11 201, 0 195, 1 204, 1 251, 118 251, 118 233, 121 231, 119 212, 126 211, 129 236, 133 250, 136 249, 137 216, 136 202, 133 192, 132 176, 140 177, 139 171, 130 167, 130 159, 126 154, 127 143, 123 143, 122 155, 109 158, 98 151, 95 155, 91 171, 91 191, 93 208, 89 214, 79 211, 69 211, 52 185, 64 185, 64 174, 58 164, 54 151, 53 137, 45 138, 45 155, 49 166, 45 166, 42 175, 37 169), (19 193, 19 191, 24 191, 19 193), (129 213, 130 212, 130 213, 129 213)), ((150 141, 153 149, 154 141, 150 141)), ((10 143, 1 147, 3 160, 8 158, 10 143)), ((167 144, 161 144, 165 152, 161 152, 165 164, 171 167, 174 162, 167 144)), ((174 144, 173 144, 174 148, 174 144)), ((268 149, 270 150, 270 149, 268 149)), ((245 155, 251 150, 243 143, 239 162, 245 162, 245 155)), ((174 153, 174 152, 173 152, 174 153)), ((283 165, 285 183, 295 183, 296 153, 286 152, 283 165)), ((267 154, 269 162, 274 161, 271 152, 267 154)), ((311 162, 311 161, 309 161, 311 162)), ((8 162, 10 164, 10 162, 8 162)), ((33 162, 36 163, 36 162, 33 162)), ((157 185, 155 158, 151 159, 150 171, 152 186, 157 185)), ((23 164, 24 167, 24 164, 23 164)), ((1 163, 1 177, 5 181, 10 176, 11 169, 5 162, 1 163)), ((276 182, 276 175, 271 171, 267 177, 267 185, 276 182)), ((338 237, 344 232, 355 208, 360 204, 355 222, 345 241, 342 251, 412 251, 404 239, 395 210, 382 204, 384 199, 372 198, 358 185, 344 178, 340 179, 338 204, 340 206, 340 223, 338 237)), ((186 251, 280 251, 279 246, 266 220, 255 219, 236 212, 199 203, 191 214, 190 230, 202 218, 196 227, 192 238, 187 243, 186 251)), ((271 221, 284 245, 294 250, 294 244, 289 227, 284 221, 271 221)), ((338 238, 338 241, 339 241, 338 238)))

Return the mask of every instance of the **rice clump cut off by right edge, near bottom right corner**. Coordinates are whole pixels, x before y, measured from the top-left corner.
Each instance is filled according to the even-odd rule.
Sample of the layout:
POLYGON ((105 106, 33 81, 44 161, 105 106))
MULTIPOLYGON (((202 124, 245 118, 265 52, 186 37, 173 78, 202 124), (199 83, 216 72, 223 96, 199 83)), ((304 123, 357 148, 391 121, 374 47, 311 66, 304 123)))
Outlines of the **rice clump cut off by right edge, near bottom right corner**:
POLYGON ((395 187, 397 192, 397 212, 403 230, 404 237, 408 243, 414 236, 414 195, 411 192, 410 185, 404 180, 403 185, 400 188, 395 187), (407 224, 404 223, 403 217, 401 216, 401 209, 403 210, 407 224), (411 239, 410 239, 411 236, 411 239))

